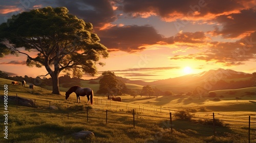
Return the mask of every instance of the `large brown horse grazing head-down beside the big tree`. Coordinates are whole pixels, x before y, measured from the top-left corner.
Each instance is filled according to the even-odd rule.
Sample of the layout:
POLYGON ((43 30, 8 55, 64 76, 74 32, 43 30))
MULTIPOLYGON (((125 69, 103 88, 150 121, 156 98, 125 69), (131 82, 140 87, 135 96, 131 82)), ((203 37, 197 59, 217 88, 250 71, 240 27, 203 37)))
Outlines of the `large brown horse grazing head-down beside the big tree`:
POLYGON ((90 103, 93 105, 93 90, 91 88, 82 88, 80 86, 72 86, 69 88, 69 90, 65 94, 66 100, 69 98, 69 95, 72 92, 76 93, 77 103, 78 103, 78 99, 79 99, 79 102, 81 103, 79 96, 81 96, 81 97, 87 96, 87 99, 88 99, 87 104, 89 103, 89 100, 90 100, 90 103), (91 96, 91 97, 89 97, 89 96, 91 96))

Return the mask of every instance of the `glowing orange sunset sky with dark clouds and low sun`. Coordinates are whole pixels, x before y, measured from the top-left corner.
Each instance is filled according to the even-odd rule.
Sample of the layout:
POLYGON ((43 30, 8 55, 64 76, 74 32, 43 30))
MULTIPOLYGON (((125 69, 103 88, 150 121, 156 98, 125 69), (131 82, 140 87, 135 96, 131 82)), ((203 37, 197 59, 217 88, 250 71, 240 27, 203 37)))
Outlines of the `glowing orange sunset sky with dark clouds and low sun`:
MULTIPOLYGON (((108 70, 146 82, 218 68, 256 72, 254 0, 11 0, 0 2, 0 23, 47 6, 91 22, 108 47, 98 75, 83 79, 108 70)), ((47 74, 44 67, 27 67, 24 55, 7 55, 0 65, 9 76, 47 74)))

